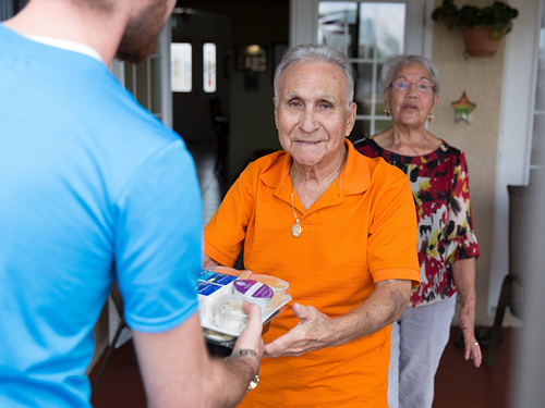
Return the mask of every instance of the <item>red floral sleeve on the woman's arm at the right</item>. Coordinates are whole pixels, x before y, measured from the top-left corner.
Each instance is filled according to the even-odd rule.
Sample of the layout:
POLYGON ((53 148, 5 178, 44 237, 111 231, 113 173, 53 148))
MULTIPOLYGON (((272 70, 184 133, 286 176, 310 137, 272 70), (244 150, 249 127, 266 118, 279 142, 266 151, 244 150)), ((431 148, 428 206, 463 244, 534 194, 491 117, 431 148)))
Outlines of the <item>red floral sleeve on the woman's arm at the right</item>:
POLYGON ((470 177, 465 154, 460 151, 455 162, 448 207, 447 262, 473 258, 481 255, 470 205, 470 177))

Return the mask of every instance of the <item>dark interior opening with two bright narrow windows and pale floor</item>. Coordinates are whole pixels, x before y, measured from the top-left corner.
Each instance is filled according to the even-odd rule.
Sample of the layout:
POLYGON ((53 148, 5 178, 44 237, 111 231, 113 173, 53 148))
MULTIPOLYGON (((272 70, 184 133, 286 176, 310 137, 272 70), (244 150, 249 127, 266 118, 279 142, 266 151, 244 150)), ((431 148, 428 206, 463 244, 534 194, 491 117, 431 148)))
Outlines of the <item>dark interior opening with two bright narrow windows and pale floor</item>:
POLYGON ((171 22, 172 127, 193 156, 206 224, 229 176, 231 21, 177 8, 171 22))

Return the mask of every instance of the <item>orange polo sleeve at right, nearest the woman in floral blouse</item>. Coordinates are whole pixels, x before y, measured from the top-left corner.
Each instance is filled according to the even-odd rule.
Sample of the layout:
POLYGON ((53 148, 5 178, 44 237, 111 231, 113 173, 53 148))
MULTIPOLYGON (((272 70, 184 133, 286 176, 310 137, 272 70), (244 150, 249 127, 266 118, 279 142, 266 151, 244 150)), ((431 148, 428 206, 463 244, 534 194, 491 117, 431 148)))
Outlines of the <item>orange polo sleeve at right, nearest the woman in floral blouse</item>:
MULTIPOLYGON (((416 249, 416 211, 409 178, 399 169, 383 162, 384 180, 375 181, 367 257, 374 282, 411 280, 420 284, 416 249)), ((375 171, 377 173, 377 171, 375 171)), ((374 175, 376 176, 376 175, 374 175)))

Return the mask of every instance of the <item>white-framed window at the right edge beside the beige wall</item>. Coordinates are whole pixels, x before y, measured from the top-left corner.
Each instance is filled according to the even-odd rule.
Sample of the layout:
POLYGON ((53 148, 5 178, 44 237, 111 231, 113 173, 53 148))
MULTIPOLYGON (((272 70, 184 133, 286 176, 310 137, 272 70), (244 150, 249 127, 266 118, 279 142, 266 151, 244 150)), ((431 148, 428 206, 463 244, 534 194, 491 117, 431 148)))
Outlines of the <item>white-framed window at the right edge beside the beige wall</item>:
POLYGON ((513 30, 505 39, 488 316, 496 312, 501 282, 509 272, 507 186, 528 185, 530 180, 542 4, 543 1, 509 1, 510 7, 519 10, 519 16, 513 30))

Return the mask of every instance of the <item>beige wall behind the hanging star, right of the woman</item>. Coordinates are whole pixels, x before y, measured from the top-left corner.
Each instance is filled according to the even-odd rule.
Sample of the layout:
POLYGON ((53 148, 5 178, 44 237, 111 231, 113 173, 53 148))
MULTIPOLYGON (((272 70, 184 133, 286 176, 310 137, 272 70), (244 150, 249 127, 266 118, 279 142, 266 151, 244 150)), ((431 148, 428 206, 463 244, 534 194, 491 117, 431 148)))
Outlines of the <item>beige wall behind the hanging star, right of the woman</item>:
MULTIPOLYGON (((436 1, 437 4, 440 1, 436 1)), ((486 1, 474 1, 475 5, 486 1)), ((504 44, 493 58, 463 57, 460 32, 449 32, 443 24, 434 24, 432 60, 439 70, 440 99, 435 121, 429 131, 450 145, 463 150, 470 172, 473 223, 481 247, 476 261, 476 325, 491 325, 487 316, 488 282, 494 217, 494 190, 498 148, 498 124, 501 100, 504 44), (465 91, 476 103, 470 125, 453 123, 450 103, 465 91)), ((509 319, 506 324, 516 322, 509 319)), ((455 321, 455 324, 457 322, 455 321)))

